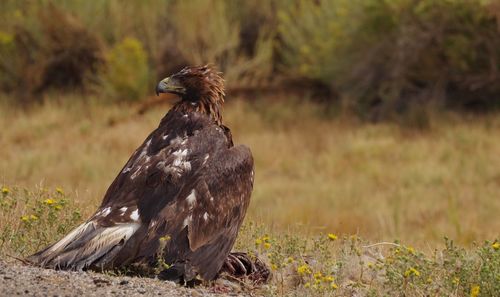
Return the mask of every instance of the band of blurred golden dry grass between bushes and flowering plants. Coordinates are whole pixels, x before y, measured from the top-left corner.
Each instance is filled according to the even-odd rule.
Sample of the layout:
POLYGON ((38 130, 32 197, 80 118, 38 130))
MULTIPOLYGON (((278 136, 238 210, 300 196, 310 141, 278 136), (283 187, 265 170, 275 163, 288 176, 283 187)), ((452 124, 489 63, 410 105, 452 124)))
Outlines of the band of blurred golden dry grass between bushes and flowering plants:
MULTIPOLYGON (((85 217, 169 107, 137 116, 129 105, 56 101, 30 111, 0 107, 0 184, 74 191, 85 217)), ((321 107, 300 102, 236 100, 225 114, 236 143, 256 160, 248 217, 271 229, 299 225, 416 246, 445 235, 462 243, 499 235, 498 116, 451 115, 414 132, 328 120, 321 107)))

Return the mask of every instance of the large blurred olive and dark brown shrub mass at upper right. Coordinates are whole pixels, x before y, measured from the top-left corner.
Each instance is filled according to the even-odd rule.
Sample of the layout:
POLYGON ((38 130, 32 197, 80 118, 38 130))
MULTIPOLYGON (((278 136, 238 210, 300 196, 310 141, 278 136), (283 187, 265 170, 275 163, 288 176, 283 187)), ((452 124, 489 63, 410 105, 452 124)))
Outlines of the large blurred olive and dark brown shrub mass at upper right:
POLYGON ((348 107, 376 118, 425 104, 498 107, 500 41, 494 38, 499 27, 493 4, 292 1, 279 11, 283 64, 296 75, 331 84, 348 107))

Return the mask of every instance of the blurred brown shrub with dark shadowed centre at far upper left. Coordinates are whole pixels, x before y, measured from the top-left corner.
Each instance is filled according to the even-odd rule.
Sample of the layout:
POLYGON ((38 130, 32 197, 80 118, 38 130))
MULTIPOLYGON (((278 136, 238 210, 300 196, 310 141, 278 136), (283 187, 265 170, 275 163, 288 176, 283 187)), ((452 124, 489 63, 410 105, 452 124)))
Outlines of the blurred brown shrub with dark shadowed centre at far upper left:
POLYGON ((15 11, 14 17, 17 25, 2 32, 0 44, 3 90, 36 98, 34 94, 51 88, 82 89, 95 76, 101 43, 76 17, 53 5, 36 16, 15 11))

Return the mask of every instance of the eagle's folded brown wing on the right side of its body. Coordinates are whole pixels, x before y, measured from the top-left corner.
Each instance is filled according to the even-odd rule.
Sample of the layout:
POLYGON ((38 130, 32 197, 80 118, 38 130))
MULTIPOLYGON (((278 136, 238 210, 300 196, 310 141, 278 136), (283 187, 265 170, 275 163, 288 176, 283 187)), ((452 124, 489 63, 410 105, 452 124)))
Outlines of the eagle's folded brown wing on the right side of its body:
POLYGON ((204 165, 186 181, 176 200, 152 219, 154 226, 140 257, 151 261, 160 238, 168 236, 163 255, 173 269, 186 275, 194 269, 204 279, 213 279, 234 245, 248 208, 253 158, 244 146, 220 146, 200 157, 204 165), (210 157, 203 163, 207 154, 210 157))

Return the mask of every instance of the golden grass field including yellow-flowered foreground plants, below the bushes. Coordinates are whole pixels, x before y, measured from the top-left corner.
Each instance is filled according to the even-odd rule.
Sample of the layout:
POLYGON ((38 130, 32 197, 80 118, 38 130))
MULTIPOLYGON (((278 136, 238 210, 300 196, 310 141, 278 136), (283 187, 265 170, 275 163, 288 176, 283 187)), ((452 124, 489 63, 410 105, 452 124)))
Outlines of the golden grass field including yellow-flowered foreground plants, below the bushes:
MULTIPOLYGON (((1 106, 1 253, 28 255, 91 215, 169 107, 139 115, 137 105, 56 95, 26 110, 1 106)), ((500 117, 441 114, 422 131, 342 115, 332 119, 329 112, 298 98, 235 99, 226 105, 235 142, 248 145, 256 162, 252 203, 237 247, 265 255, 281 276, 266 292, 280 295, 296 287, 309 292, 315 286, 310 293, 335 294, 315 284, 313 272, 322 272, 326 283, 335 275, 335 286, 343 290, 359 282, 365 293, 394 286, 420 296, 419 290, 429 288, 419 287, 419 278, 428 279, 424 274, 442 281, 436 292, 443 294, 456 290, 454 296, 465 296, 479 284, 483 292, 498 292, 500 138, 494 135, 500 117), (470 250, 450 241, 445 246, 444 237, 470 250), (395 240, 376 245, 375 254, 394 256, 387 267, 400 271, 399 279, 391 283, 366 268, 370 281, 363 268, 358 275, 358 267, 348 269, 356 275, 352 281, 348 272, 339 272, 341 263, 375 267, 377 261, 378 269, 387 271, 383 265, 389 264, 366 246, 395 240), (447 274, 445 264, 429 264, 437 263, 438 250, 460 263, 456 271, 447 274), (493 257, 487 279, 471 272, 484 269, 481 253, 493 257), (290 277, 290 270, 298 276, 290 277), (454 286, 457 277, 462 279, 454 286), (412 282, 415 287, 401 287, 412 282)))

